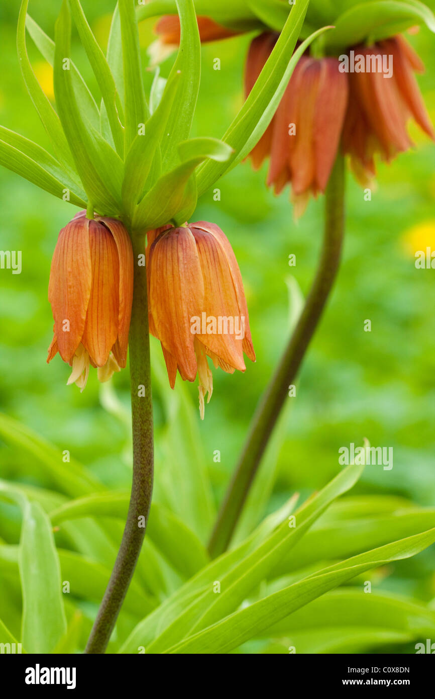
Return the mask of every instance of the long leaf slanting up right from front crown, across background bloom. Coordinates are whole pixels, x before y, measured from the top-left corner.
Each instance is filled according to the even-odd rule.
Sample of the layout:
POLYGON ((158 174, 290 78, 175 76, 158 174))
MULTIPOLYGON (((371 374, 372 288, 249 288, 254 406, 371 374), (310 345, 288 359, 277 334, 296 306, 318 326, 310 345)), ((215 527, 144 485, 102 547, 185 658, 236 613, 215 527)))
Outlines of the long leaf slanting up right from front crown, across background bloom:
POLYGON ((293 54, 302 28, 309 0, 298 0, 293 6, 274 50, 244 106, 235 117, 226 134, 225 143, 233 147, 234 154, 225 165, 207 162, 198 171, 198 196, 211 187, 216 180, 242 161, 263 136, 272 121, 297 61, 311 41, 325 29, 311 35, 293 54))

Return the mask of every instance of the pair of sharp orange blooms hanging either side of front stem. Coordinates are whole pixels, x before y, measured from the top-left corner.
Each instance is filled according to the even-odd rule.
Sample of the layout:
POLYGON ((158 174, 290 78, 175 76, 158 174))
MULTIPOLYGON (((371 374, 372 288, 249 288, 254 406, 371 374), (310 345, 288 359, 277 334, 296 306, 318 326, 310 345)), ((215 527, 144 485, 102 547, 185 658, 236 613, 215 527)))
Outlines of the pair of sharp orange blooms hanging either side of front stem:
MULTIPOLYGON (((149 327, 161 341, 170 386, 198 375, 200 414, 212 396, 212 372, 246 369, 255 361, 242 275, 221 229, 198 222, 163 226, 147 234, 145 250, 149 327)), ((133 251, 115 219, 89 220, 80 212, 59 233, 48 298, 54 338, 47 361, 59 352, 72 366, 68 384, 84 389, 89 366, 107 381, 126 366, 133 297, 133 251)), ((147 312, 147 309, 144 309, 147 312)))

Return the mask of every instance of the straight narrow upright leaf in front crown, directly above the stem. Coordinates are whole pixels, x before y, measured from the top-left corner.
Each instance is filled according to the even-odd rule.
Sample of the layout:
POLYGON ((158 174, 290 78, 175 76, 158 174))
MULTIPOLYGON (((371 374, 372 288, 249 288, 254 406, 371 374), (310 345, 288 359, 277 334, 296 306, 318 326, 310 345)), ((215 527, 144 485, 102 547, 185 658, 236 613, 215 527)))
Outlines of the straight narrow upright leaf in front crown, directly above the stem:
POLYGON ((140 64, 138 22, 133 0, 119 0, 125 89, 125 151, 138 135, 140 124, 149 117, 140 64))

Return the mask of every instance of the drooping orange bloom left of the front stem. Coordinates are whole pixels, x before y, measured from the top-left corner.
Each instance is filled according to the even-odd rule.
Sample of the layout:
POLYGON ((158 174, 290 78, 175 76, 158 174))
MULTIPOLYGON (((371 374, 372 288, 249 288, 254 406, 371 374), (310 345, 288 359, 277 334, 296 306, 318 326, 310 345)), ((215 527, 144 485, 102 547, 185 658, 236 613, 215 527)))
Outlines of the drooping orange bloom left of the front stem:
POLYGON ((133 250, 121 222, 86 212, 59 233, 48 300, 54 338, 47 362, 59 352, 72 366, 68 384, 84 389, 89 364, 107 381, 126 366, 133 298, 133 250))

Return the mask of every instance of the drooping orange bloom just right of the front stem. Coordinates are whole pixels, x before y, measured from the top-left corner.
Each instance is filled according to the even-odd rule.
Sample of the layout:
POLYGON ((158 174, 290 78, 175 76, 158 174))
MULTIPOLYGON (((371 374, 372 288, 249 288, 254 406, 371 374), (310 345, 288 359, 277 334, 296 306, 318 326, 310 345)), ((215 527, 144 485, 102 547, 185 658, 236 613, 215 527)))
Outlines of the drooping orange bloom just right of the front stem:
POLYGON ((170 386, 198 374, 200 415, 213 391, 209 356, 227 373, 255 361, 242 275, 221 229, 198 222, 148 233, 149 327, 161 341, 170 386))

